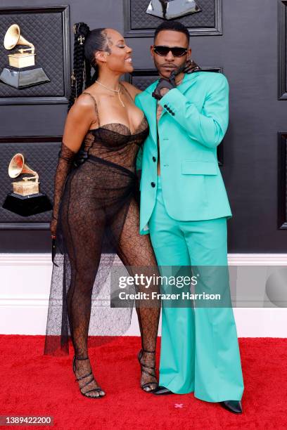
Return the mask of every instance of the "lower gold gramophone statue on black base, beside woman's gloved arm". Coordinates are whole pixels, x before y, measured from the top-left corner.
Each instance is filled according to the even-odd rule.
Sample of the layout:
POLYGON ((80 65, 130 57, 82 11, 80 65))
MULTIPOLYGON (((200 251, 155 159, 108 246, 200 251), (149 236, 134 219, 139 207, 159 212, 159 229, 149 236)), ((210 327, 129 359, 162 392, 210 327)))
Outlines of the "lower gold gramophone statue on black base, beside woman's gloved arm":
POLYGON ((6 196, 2 207, 21 216, 50 211, 53 206, 46 194, 39 191, 39 175, 25 164, 23 154, 15 154, 8 167, 8 175, 17 178, 20 174, 32 174, 22 180, 12 182, 13 193, 6 196))

